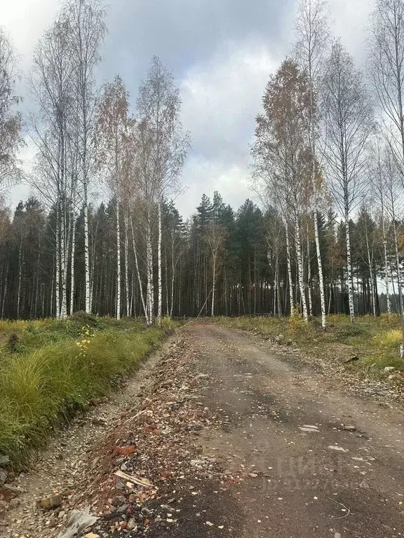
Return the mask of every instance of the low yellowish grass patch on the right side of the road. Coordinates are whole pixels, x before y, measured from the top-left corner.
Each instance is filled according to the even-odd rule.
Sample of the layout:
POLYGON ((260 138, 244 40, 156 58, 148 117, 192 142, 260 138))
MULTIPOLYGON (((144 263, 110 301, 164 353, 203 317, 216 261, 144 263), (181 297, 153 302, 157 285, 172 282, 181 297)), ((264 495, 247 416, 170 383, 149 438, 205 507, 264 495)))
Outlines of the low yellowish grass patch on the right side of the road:
POLYGON ((404 370, 404 361, 400 359, 399 315, 358 317, 355 324, 351 324, 348 316, 332 315, 327 321, 323 331, 318 318, 311 319, 309 324, 301 317, 217 318, 220 324, 253 331, 266 338, 282 334, 285 342, 290 340, 313 357, 341 361, 357 355, 359 360, 346 364, 345 368, 362 378, 386 378, 386 366, 404 370))

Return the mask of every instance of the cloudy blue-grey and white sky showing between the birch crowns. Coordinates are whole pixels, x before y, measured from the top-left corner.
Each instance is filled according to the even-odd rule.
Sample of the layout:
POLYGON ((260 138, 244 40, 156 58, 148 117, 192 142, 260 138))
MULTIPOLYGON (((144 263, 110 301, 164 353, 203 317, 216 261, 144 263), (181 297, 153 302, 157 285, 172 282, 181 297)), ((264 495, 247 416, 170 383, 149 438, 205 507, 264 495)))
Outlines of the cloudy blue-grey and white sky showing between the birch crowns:
MULTIPOLYGON (((358 64, 365 55, 371 0, 330 0, 332 31, 358 64)), ((110 0, 109 34, 98 69, 100 83, 121 74, 135 99, 153 55, 173 69, 182 95, 182 120, 192 151, 184 167, 182 214, 203 193, 218 190, 233 207, 249 190, 249 144, 269 75, 293 39, 296 0, 110 0)), ((60 8, 58 0, 0 0, 0 25, 11 37, 22 74, 36 41, 60 8)), ((25 94, 22 78, 20 93, 25 94)), ((25 105, 27 106, 27 99, 25 105)), ((25 166, 32 149, 22 152, 25 166)), ((17 186, 11 207, 29 194, 17 186)))

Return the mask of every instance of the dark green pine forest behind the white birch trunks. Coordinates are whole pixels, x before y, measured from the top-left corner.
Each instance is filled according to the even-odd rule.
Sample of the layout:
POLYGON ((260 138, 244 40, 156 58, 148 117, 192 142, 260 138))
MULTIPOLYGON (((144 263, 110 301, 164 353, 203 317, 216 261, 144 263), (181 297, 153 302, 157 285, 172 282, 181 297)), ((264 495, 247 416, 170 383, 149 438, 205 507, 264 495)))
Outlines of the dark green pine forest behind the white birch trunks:
MULTIPOLYGON (((156 208, 157 211, 157 208, 156 208)), ((144 316, 147 291, 147 238, 130 212, 120 215, 120 275, 116 266, 116 198, 99 207, 89 206, 91 312, 97 315, 144 316), (126 246, 127 245, 127 246, 126 246), (137 257, 137 261, 136 258, 137 257), (139 267, 139 275, 137 274, 139 267), (118 285, 120 289, 118 289, 118 285), (143 296, 142 296, 143 294, 143 296), (119 299, 120 296, 120 299, 119 299), (117 312, 117 307, 120 311, 117 312)), ((0 300, 1 317, 35 318, 57 315, 55 275, 55 221, 57 209, 47 212, 36 198, 20 202, 13 219, 1 211, 0 300)), ((314 217, 302 221, 302 270, 307 283, 308 315, 321 315, 316 264, 314 217)), ((395 259, 394 227, 362 206, 349 223, 352 247, 354 306, 359 315, 400 312, 395 259), (386 244, 385 244, 386 241, 386 244), (384 247, 392 263, 385 274, 384 247), (384 280, 389 280, 386 294, 384 280), (381 289, 382 288, 382 289, 381 289)), ((71 265, 67 272, 67 315, 86 306, 84 278, 84 215, 76 218, 74 285, 71 265)), ((210 315, 290 315, 299 298, 296 256, 288 258, 286 229, 276 208, 263 211, 252 200, 237 210, 226 205, 219 193, 203 195, 194 216, 184 221, 173 202, 161 203, 161 315, 196 317, 210 315), (290 280, 290 275, 292 279, 290 280), (290 287, 290 282, 292 286, 290 287), (290 301, 290 296, 292 301, 290 301)), ((159 223, 150 230, 157 249, 159 223)), ((346 282, 345 223, 337 213, 318 212, 318 240, 323 254, 326 315, 349 315, 346 282)), ((400 262, 403 236, 398 238, 400 262)), ((154 275, 159 259, 154 256, 154 275)), ((59 305, 60 307, 60 305, 59 305)))

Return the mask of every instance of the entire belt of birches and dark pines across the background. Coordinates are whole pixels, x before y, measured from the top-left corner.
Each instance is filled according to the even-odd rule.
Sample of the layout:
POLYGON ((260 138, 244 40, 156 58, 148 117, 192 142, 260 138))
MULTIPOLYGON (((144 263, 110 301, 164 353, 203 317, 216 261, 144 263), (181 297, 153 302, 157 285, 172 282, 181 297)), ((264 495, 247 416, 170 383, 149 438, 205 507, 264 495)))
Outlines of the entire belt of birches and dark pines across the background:
MULTIPOLYGON (((403 312, 404 1, 375 0, 361 71, 323 0, 300 0, 292 53, 269 77, 251 146, 251 200, 175 207, 191 138, 173 74, 154 57, 133 102, 95 69, 99 0, 67 0, 34 51, 32 108, 15 113, 0 32, 2 317, 403 312), (22 172, 22 124, 36 147, 22 172), (105 202, 95 206, 94 193, 105 202), (381 287, 383 293, 380 293, 381 287)), ((225 193, 224 193, 225 198, 225 193)))

